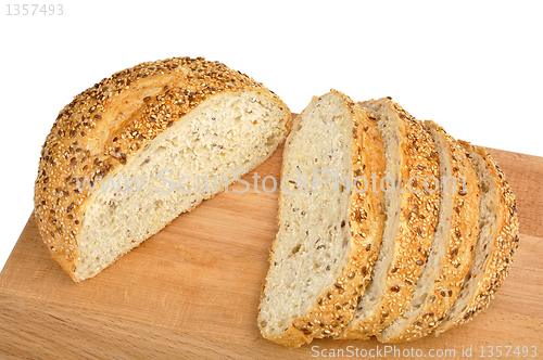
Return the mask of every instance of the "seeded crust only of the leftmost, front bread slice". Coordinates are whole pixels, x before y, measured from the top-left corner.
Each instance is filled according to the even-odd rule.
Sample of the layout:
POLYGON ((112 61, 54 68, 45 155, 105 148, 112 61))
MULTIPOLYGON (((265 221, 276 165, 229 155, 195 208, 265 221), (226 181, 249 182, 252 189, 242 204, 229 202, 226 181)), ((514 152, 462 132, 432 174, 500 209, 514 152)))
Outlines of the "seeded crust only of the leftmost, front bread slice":
MULTIPOLYGON (((371 173, 382 176, 384 154, 382 140, 376 128, 375 118, 370 118, 366 110, 353 102, 345 94, 336 90, 331 91, 342 97, 344 104, 352 114, 353 178, 365 177, 366 179, 370 179, 371 173)), ((292 131, 295 131, 298 121, 302 115, 303 112, 294 120, 292 131)), ((288 144, 285 151, 288 151, 288 144)), ((281 177, 283 176, 283 169, 281 169, 281 177)), ((356 185, 359 190, 364 189, 361 182, 357 182, 356 185)), ((313 338, 333 336, 341 332, 351 321, 358 296, 364 292, 370 280, 371 268, 377 258, 381 242, 384 221, 382 206, 381 191, 352 192, 349 211, 351 227, 350 254, 340 277, 333 285, 330 285, 323 292, 323 295, 308 312, 293 319, 292 323, 280 335, 267 337, 258 321, 258 327, 264 337, 287 347, 295 348, 305 343, 311 343, 313 338)), ((278 220, 281 214, 278 214, 278 220)), ((275 262, 274 248, 276 242, 277 240, 274 241, 270 250, 270 267, 275 262)), ((263 286, 263 295, 264 293, 265 286, 263 286)), ((262 301, 258 312, 261 309, 262 301)))

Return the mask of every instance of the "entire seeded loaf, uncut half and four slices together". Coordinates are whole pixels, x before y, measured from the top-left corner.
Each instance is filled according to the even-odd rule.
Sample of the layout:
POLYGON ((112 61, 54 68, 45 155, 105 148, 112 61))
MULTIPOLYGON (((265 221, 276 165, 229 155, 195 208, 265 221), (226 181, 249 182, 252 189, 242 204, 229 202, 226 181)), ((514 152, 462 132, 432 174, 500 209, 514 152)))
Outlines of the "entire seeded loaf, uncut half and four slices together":
MULTIPOLYGON (((34 213, 51 256, 76 282, 94 277, 262 164, 290 117, 262 83, 202 57, 96 83, 41 151, 34 213)), ((336 90, 292 124, 277 220, 257 326, 288 347, 439 335, 489 305, 519 241, 515 196, 483 147, 390 98, 336 90)))

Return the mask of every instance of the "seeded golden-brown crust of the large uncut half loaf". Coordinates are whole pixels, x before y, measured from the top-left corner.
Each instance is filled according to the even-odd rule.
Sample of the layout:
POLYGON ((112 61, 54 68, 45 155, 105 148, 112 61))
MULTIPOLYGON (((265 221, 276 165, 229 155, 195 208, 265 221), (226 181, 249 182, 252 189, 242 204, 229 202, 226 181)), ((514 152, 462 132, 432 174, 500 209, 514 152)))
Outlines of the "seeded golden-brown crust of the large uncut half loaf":
POLYGON ((74 272, 89 189, 79 192, 76 177, 99 181, 215 94, 254 89, 290 118, 287 105, 262 83, 203 57, 142 63, 75 97, 46 139, 35 182, 34 213, 51 256, 75 281, 81 280, 74 272))

